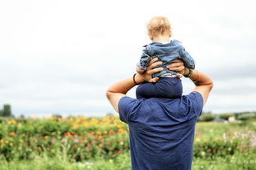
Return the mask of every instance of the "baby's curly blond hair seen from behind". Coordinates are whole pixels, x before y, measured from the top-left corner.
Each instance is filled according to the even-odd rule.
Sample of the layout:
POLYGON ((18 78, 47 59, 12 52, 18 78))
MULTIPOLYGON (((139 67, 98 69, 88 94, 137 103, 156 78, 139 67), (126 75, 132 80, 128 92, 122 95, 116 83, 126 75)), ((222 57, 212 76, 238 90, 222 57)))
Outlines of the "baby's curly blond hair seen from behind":
POLYGON ((164 16, 155 16, 146 25, 149 36, 155 37, 163 34, 172 36, 171 24, 164 16))

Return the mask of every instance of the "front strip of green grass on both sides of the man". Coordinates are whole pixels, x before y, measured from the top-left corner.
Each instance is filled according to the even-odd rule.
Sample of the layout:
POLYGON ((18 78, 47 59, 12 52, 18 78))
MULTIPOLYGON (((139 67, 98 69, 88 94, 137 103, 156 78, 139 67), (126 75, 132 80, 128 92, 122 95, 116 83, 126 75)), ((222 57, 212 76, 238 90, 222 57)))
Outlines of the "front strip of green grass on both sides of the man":
MULTIPOLYGON (((193 159, 193 170, 255 170, 256 155, 236 153, 213 159, 193 159)), ((65 155, 54 158, 36 157, 33 160, 0 160, 0 170, 130 170, 130 155, 122 154, 116 159, 92 159, 86 162, 70 162, 65 155)))

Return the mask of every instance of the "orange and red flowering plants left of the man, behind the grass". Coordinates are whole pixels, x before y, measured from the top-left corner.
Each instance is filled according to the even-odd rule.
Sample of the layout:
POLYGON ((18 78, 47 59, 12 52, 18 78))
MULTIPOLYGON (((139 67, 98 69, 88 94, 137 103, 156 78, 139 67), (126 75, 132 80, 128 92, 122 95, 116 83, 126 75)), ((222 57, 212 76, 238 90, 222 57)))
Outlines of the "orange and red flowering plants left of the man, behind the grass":
POLYGON ((0 153, 7 160, 33 159, 64 151, 70 159, 82 161, 100 155, 112 158, 128 150, 127 125, 116 117, 49 120, 16 119, 0 124, 0 153))

